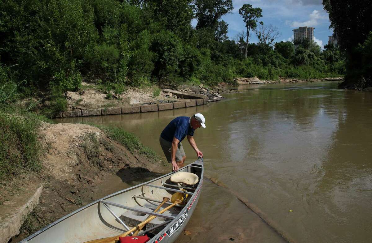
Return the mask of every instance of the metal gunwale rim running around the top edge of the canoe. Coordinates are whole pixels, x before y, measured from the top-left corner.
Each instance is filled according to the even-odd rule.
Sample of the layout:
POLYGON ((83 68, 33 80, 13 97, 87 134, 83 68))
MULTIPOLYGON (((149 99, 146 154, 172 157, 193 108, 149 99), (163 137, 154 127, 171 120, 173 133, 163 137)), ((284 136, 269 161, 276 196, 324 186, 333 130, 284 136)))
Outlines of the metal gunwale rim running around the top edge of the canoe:
MULTIPOLYGON (((156 239, 158 236, 160 236, 160 234, 163 234, 166 230, 168 230, 168 229, 169 229, 169 228, 168 228, 169 225, 170 225, 170 224, 173 224, 173 222, 177 221, 177 220, 180 218, 180 216, 182 216, 182 214, 183 214, 186 210, 189 210, 189 209, 190 209, 191 206, 196 206, 196 203, 195 203, 194 205, 191 205, 191 206, 190 206, 190 204, 192 204, 193 201, 195 201, 195 199, 199 196, 199 191, 201 190, 202 180, 203 180, 203 174, 204 174, 204 173, 203 173, 203 170, 204 170, 204 169, 203 169, 203 162, 200 161, 200 160, 196 160, 195 162, 193 162, 193 163, 191 163, 191 164, 189 164, 189 165, 186 165, 186 166, 180 168, 179 171, 180 171, 180 170, 183 170, 183 169, 185 169, 185 168, 187 169, 187 167, 195 167, 195 168, 199 168, 199 169, 201 169, 201 177, 200 177, 200 179, 199 179, 199 184, 198 184, 198 187, 195 188, 195 192, 197 192, 197 193, 191 193, 192 195, 190 196, 189 201, 188 201, 187 204, 183 207, 183 209, 180 211, 180 213, 179 213, 176 217, 174 217, 173 220, 171 220, 171 221, 169 220, 170 223, 169 223, 167 226, 165 226, 164 229, 161 230, 161 231, 160 231, 157 235, 155 235, 152 239, 156 239), (200 166, 195 166, 194 164, 197 164, 197 165, 200 165, 200 166)), ((79 213, 80 211, 82 211, 82 210, 84 210, 84 209, 86 209, 86 208, 89 208, 89 207, 91 207, 91 206, 93 206, 93 205, 95 205, 95 204, 99 204, 99 203, 102 202, 103 200, 106 200, 106 199, 108 199, 108 198, 110 198, 110 197, 117 196, 117 195, 119 195, 119 194, 121 194, 121 193, 125 193, 126 191, 130 191, 130 190, 133 190, 133 189, 135 189, 135 188, 143 187, 143 186, 146 185, 146 184, 152 183, 152 182, 154 182, 154 181, 157 181, 157 180, 159 180, 159 179, 161 179, 161 178, 167 177, 167 176, 169 176, 169 175, 171 175, 171 174, 174 174, 174 173, 176 173, 176 172, 177 172, 177 171, 175 171, 175 172, 170 172, 170 173, 168 173, 168 174, 165 174, 165 175, 162 175, 162 176, 160 176, 160 177, 154 178, 153 180, 146 181, 146 182, 144 182, 144 183, 141 183, 141 184, 138 184, 138 185, 134 185, 134 186, 132 186, 132 187, 129 187, 129 188, 126 188, 126 189, 123 189, 123 190, 117 191, 117 192, 115 192, 115 193, 109 194, 108 196, 102 197, 102 198, 100 198, 100 199, 98 199, 98 200, 96 200, 96 201, 94 201, 94 202, 92 202, 92 203, 87 204, 86 206, 83 206, 83 207, 81 207, 81 208, 78 208, 77 210, 75 210, 75 211, 73 211, 73 212, 67 214, 67 215, 64 216, 64 217, 61 217, 60 219, 58 219, 58 220, 54 221, 53 223, 49 224, 48 226, 45 226, 45 227, 42 228, 41 230, 38 230, 38 231, 36 231, 35 233, 33 233, 32 235, 30 235, 30 236, 28 236, 27 238, 23 239, 23 240, 20 241, 19 243, 28 243, 29 240, 32 240, 34 237, 38 236, 38 235, 41 234, 42 232, 44 232, 44 231, 48 230, 49 228, 53 227, 55 224, 58 224, 58 223, 60 223, 61 221, 64 221, 64 220, 68 219, 69 217, 71 217, 71 216, 73 216, 73 215, 79 213)), ((168 188, 168 189, 169 189, 169 188, 168 188)), ((132 197, 135 197, 135 195, 132 196, 132 197)), ((164 217, 164 216, 163 216, 163 217, 164 217)), ((164 223, 164 224, 165 224, 165 223, 164 223)), ((183 226, 183 227, 185 227, 185 226, 183 226)), ((150 242, 154 242, 154 241, 150 241, 150 242)))

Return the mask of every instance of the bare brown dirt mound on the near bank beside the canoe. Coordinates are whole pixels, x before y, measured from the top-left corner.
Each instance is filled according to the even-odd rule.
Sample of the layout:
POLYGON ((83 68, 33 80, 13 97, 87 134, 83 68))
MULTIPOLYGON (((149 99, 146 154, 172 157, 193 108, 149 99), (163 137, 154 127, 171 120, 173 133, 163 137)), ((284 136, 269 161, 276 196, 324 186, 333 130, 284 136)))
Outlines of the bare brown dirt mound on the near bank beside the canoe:
MULTIPOLYGON (((109 187, 97 191, 106 177, 116 175, 130 183, 158 177, 161 175, 158 171, 163 169, 161 161, 131 153, 90 125, 48 124, 40 131, 40 141, 47 151, 42 158, 43 170, 30 177, 39 178, 44 189, 38 206, 26 220, 27 225, 12 242, 19 242, 62 216, 117 191, 109 187), (95 139, 92 142, 88 137, 95 139)), ((15 185, 22 187, 22 183, 15 185)))

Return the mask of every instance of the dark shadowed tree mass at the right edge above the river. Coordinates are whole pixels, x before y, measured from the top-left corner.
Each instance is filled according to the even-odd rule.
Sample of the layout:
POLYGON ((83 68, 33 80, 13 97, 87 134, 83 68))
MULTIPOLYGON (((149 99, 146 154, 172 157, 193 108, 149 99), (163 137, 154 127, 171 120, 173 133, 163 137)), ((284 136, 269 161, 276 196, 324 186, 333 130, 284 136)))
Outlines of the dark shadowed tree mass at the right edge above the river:
POLYGON ((323 0, 340 49, 346 53, 344 87, 372 86, 372 4, 369 0, 323 0))

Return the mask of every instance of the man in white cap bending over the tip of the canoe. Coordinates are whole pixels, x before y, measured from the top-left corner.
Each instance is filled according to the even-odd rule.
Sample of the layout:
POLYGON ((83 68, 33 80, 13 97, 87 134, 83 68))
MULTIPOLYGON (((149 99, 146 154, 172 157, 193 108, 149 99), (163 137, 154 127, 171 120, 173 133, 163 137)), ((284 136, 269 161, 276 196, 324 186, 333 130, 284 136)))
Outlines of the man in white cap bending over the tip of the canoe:
POLYGON ((205 118, 197 113, 191 117, 179 116, 174 118, 160 134, 160 146, 168 162, 172 164, 173 171, 183 167, 186 159, 185 151, 181 141, 186 137, 191 147, 195 150, 196 156, 203 157, 203 153, 196 146, 193 138, 195 129, 205 128, 205 118))

